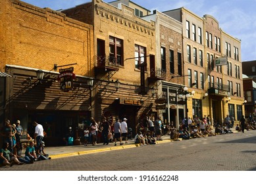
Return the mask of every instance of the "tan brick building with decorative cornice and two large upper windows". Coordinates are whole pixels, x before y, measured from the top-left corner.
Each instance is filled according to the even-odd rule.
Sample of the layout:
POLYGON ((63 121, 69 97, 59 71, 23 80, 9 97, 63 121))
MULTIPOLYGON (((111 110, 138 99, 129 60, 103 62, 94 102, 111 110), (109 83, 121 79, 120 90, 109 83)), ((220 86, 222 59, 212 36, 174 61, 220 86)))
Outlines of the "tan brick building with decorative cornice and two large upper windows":
POLYGON ((129 1, 110 5, 100 0, 62 11, 94 26, 94 117, 106 116, 109 122, 125 117, 134 131, 145 116, 157 116, 151 88, 163 78, 155 61, 155 22, 136 16, 136 10, 148 12, 129 1), (145 74, 141 64, 146 64, 145 74))

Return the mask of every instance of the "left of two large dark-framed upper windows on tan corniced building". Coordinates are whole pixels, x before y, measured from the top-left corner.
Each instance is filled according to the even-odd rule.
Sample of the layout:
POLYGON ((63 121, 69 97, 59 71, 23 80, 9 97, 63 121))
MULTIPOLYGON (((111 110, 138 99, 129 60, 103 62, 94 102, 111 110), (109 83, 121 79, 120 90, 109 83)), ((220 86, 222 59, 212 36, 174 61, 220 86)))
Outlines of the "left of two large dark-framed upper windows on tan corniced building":
POLYGON ((109 62, 124 65, 123 41, 116 37, 109 37, 109 62))

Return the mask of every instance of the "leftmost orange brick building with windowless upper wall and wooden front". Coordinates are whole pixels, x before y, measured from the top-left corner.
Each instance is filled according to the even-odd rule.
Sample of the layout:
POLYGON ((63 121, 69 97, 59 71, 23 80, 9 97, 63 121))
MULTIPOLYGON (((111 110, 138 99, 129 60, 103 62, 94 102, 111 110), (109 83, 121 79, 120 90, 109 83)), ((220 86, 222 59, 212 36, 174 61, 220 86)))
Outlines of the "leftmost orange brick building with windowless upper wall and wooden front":
POLYGON ((51 143, 60 144, 68 126, 90 120, 93 26, 22 1, 0 3, 0 71, 11 76, 0 78, 1 122, 20 120, 24 133, 32 133, 30 123, 38 121, 51 143), (76 78, 64 92, 59 69, 68 67, 76 78), (38 70, 44 72, 40 82, 38 70))

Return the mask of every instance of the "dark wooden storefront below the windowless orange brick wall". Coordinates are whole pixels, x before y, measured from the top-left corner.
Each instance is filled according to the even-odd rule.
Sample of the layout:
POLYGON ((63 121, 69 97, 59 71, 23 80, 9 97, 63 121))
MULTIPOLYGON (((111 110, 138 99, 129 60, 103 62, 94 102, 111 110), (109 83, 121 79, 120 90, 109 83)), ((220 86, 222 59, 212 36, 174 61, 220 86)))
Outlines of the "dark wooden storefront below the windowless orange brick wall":
POLYGON ((27 133, 33 137, 32 122, 36 121, 45 131, 45 144, 63 145, 68 127, 80 136, 79 129, 90 124, 90 78, 76 76, 70 90, 63 90, 59 72, 41 70, 43 77, 38 78, 36 68, 12 65, 6 68, 12 78, 5 84, 5 118, 12 124, 20 120, 24 138, 27 133))

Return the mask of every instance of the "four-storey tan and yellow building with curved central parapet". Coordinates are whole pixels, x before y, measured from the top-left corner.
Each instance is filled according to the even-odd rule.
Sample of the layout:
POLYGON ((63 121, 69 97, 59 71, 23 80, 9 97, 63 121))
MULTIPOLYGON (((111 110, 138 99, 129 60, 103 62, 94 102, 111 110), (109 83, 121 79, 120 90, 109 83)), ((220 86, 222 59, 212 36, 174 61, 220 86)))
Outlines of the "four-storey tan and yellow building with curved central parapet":
POLYGON ((200 18, 184 7, 164 13, 182 22, 184 84, 195 91, 188 99, 192 107, 188 116, 209 115, 212 125, 222 124, 226 115, 240 120, 244 114, 240 40, 223 32, 213 16, 200 18), (224 62, 219 63, 220 58, 224 62))

